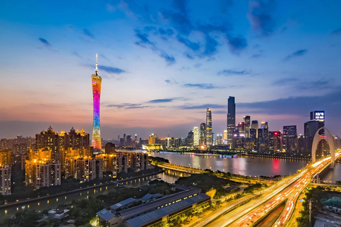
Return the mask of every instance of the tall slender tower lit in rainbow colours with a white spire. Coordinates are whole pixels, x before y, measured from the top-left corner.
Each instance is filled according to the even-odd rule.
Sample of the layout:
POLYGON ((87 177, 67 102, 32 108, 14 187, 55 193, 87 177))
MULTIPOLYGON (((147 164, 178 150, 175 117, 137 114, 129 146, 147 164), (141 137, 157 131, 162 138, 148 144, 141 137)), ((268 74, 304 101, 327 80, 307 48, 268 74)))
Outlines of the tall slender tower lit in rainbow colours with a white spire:
POLYGON ((99 125, 99 104, 101 102, 101 85, 102 77, 98 75, 97 54, 96 54, 96 74, 92 74, 92 96, 94 99, 94 121, 92 124, 92 141, 91 146, 95 152, 102 150, 101 130, 99 125))

